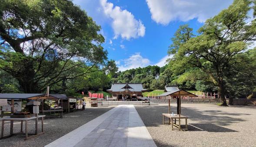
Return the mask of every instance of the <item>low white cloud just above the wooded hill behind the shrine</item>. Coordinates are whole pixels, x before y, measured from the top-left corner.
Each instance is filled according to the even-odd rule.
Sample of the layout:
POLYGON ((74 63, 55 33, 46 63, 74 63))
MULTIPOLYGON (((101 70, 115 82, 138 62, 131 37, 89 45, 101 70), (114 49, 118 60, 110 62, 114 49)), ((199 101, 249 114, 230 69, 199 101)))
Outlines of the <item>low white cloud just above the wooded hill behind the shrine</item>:
POLYGON ((118 65, 119 70, 129 70, 132 68, 138 68, 138 67, 146 67, 150 65, 150 60, 147 58, 143 58, 140 53, 135 53, 130 55, 129 58, 116 61, 116 64, 118 65), (123 65, 120 64, 120 62, 123 61, 123 65))

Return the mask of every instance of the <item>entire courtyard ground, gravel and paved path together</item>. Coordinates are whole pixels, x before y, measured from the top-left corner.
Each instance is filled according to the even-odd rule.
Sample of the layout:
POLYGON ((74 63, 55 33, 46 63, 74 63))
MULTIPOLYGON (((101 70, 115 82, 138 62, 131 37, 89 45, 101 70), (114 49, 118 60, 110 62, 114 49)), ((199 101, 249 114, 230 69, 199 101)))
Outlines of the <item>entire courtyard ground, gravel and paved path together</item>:
MULTIPOLYGON (((149 146, 156 145, 158 147, 256 146, 256 140, 254 139, 256 135, 255 106, 221 107, 216 104, 182 104, 181 114, 188 117, 188 131, 172 131, 171 125, 163 125, 162 113, 167 112, 168 104, 131 105, 124 108, 122 107, 121 109, 119 107, 116 107, 116 105, 103 105, 96 108, 90 108, 89 106, 88 108, 86 108, 86 111, 77 111, 64 114, 63 118, 46 118, 44 125, 45 134, 39 137, 24 141, 23 135, 15 135, 13 137, 0 140, 0 146, 50 146, 54 142, 56 143, 57 141, 60 141, 60 138, 63 138, 64 135, 77 138, 76 135, 79 135, 81 137, 81 134, 79 134, 79 132, 81 133, 84 131, 86 133, 86 130, 88 135, 84 135, 85 137, 75 142, 75 144, 73 144, 74 146, 100 145, 97 142, 105 143, 106 146, 111 146, 111 144, 126 144, 126 146, 133 146, 133 141, 145 141, 145 139, 146 142, 143 144, 149 146), (127 111, 127 108, 132 108, 130 114, 129 111, 127 111), (113 117, 114 115, 119 117, 115 118, 113 117), (106 118, 103 118, 103 116, 105 116, 106 118), (90 123, 93 122, 93 120, 96 121, 97 118, 99 119, 100 117, 106 120, 106 122, 109 121, 112 126, 106 125, 106 123, 104 124, 103 121, 102 123, 98 122, 99 124, 97 126, 94 126, 95 129, 93 129, 93 125, 91 125, 91 128, 88 128, 90 127, 90 123), (113 119, 111 119, 111 117, 113 117, 113 119), (140 118, 142 120, 141 122, 140 118), (132 125, 137 125, 139 123, 136 122, 140 122, 140 128, 143 133, 138 132, 138 130, 132 129, 130 130, 130 134, 120 134, 120 136, 133 136, 132 140, 129 137, 128 140, 124 139, 125 137, 127 138, 127 136, 119 136, 116 137, 117 139, 112 139, 111 141, 104 141, 104 138, 101 138, 102 140, 99 140, 100 137, 97 137, 97 135, 99 135, 98 132, 100 131, 97 131, 96 129, 104 129, 104 127, 109 127, 109 129, 111 129, 112 127, 113 129, 116 129, 113 126, 117 125, 121 127, 126 127, 127 129, 131 129, 132 127, 129 127, 130 125, 126 125, 126 123, 124 122, 129 119, 135 120, 132 125), (85 129, 87 127, 87 129, 83 130, 82 127, 85 127, 85 129), (146 129, 143 127, 145 127, 146 129), (88 130, 90 129, 91 131, 88 132, 88 130), (131 134, 131 132, 134 134, 131 134), (91 135, 89 135, 90 133, 91 135), (138 136, 137 134, 146 135, 138 136), (95 136, 94 138, 98 139, 86 139, 86 136, 88 137, 93 135, 95 136)), ((170 112, 176 113, 176 104, 171 104, 170 112)), ((33 121, 31 121, 30 123, 33 123, 33 121)), ((7 123, 4 128, 5 134, 8 134, 8 128, 10 128, 8 124, 9 123, 7 123)), ((184 124, 183 121, 182 124, 184 124)), ((14 132, 19 131, 19 126, 19 122, 14 122, 14 132)), ((29 131, 33 131, 32 128, 28 129, 29 131)), ((128 131, 126 130, 126 132, 128 131)), ((112 134, 111 131, 108 131, 108 133, 109 134, 103 133, 106 138, 109 137, 108 135, 116 135, 117 132, 112 132, 115 133, 112 134)), ((102 133, 100 135, 102 135, 102 133)))

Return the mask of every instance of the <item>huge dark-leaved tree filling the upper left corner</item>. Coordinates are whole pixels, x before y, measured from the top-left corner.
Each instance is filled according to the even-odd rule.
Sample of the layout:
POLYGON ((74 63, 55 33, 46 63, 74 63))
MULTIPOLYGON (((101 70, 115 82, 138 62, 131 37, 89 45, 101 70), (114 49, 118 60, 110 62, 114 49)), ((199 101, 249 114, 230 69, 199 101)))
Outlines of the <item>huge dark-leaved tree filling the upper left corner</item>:
POLYGON ((71 0, 1 0, 0 69, 25 93, 84 76, 106 63, 98 31, 71 0), (76 72, 81 66, 86 70, 76 72))

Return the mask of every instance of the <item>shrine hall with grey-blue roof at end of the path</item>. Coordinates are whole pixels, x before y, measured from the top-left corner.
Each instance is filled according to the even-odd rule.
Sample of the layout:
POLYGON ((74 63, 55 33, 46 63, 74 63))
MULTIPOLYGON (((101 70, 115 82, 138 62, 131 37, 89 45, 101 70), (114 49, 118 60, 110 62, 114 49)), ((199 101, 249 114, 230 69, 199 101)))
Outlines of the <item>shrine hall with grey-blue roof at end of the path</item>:
POLYGON ((113 83, 107 91, 118 101, 137 101, 147 89, 143 88, 142 83, 113 83))

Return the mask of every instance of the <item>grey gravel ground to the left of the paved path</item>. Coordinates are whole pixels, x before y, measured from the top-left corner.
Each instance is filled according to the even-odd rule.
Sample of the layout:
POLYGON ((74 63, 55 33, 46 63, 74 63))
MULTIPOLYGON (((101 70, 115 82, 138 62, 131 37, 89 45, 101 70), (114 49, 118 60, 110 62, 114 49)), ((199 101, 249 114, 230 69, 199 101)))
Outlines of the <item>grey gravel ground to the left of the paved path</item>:
MULTIPOLYGON (((14 135, 0 140, 0 147, 43 147, 113 108, 114 106, 99 106, 94 108, 87 108, 86 106, 86 111, 64 114, 63 118, 46 118, 44 120, 45 134, 27 141, 23 140, 25 135, 14 135)), ((29 121, 29 123, 32 124, 28 125, 29 133, 34 133, 35 123, 34 121, 29 121)), ((39 132, 41 131, 40 124, 41 121, 39 121, 39 132)), ((0 122, 1 125, 2 123, 0 122)), ((5 123, 4 126, 4 134, 7 135, 10 132, 10 123, 5 123)), ((13 132, 20 131, 20 122, 14 121, 13 128, 13 132)), ((23 129, 25 131, 24 123, 23 129)))

